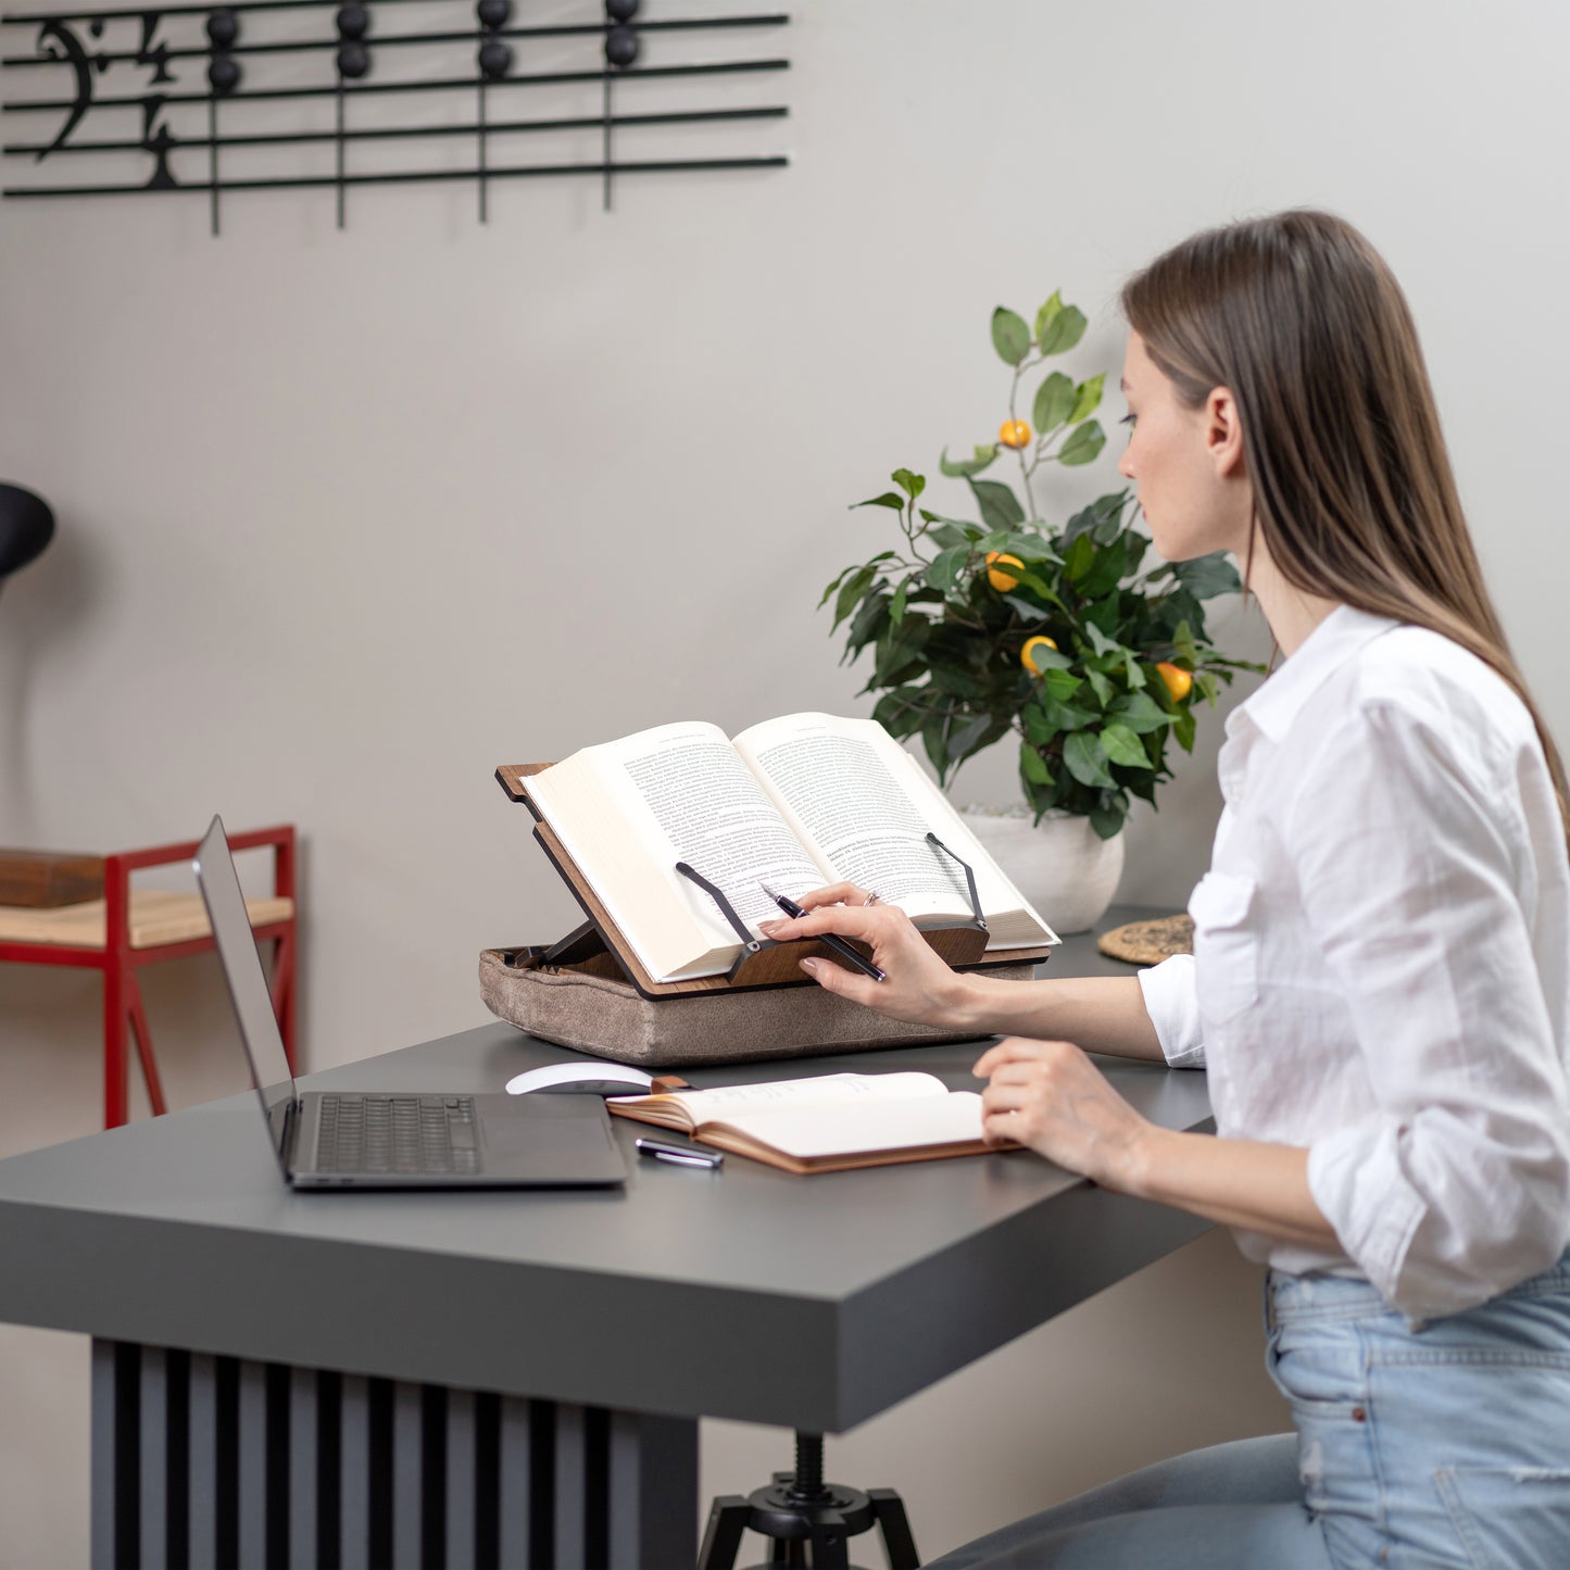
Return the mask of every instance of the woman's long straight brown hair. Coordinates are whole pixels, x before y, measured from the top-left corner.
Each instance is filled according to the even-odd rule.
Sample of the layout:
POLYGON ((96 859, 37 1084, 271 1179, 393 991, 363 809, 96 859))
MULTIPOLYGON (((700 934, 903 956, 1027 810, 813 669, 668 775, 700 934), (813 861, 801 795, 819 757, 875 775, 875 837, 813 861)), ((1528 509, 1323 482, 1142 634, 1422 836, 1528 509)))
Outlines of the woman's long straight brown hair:
POLYGON ((1378 251, 1331 214, 1275 214, 1173 246, 1124 284, 1123 309, 1181 402, 1231 389, 1256 526, 1287 582, 1440 633, 1510 685, 1570 837, 1564 763, 1484 587, 1411 312, 1378 251))

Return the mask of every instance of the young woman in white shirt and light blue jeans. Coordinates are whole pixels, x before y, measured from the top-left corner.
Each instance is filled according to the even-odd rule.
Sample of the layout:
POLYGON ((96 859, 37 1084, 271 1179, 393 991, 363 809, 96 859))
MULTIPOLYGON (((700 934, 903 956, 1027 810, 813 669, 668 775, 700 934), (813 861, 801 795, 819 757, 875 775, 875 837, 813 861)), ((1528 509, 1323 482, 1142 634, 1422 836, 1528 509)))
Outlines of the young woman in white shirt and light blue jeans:
MULTIPOLYGON (((997 1031, 989 1137, 1236 1229, 1295 1440, 1162 1463, 961 1565, 1570 1565, 1565 777, 1482 586, 1405 300, 1287 212, 1135 276, 1123 388, 1168 559, 1228 550, 1284 664, 1226 725, 1195 953, 1129 980, 955 975, 837 885, 776 923, 903 1019, 997 1031), (1217 1138, 1085 1057, 1209 1074, 1217 1138)), ((1049 918, 1050 918, 1050 912, 1049 918)))

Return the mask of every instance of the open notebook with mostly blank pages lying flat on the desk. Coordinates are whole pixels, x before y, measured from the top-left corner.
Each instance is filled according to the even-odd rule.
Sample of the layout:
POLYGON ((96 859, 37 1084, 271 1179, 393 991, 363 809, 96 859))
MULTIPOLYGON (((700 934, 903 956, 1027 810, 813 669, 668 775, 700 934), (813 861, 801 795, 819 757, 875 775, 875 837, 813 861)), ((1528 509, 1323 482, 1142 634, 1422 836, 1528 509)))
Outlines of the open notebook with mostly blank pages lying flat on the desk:
POLYGON ((659 1096, 615 1096, 622 1118, 680 1129, 700 1145, 832 1173, 1013 1149, 981 1138, 981 1097, 933 1074, 820 1074, 659 1096))

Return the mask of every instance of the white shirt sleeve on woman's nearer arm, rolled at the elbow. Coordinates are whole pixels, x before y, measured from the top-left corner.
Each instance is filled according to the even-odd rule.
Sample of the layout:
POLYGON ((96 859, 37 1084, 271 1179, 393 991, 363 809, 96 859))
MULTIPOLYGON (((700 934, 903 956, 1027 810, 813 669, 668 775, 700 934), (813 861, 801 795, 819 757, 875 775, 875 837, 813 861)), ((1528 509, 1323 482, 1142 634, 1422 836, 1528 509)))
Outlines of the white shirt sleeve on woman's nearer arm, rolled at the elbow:
POLYGON ((1334 776, 1302 782, 1284 842, 1371 1094, 1311 1143, 1308 1184, 1385 1298, 1438 1317, 1565 1247, 1570 1096, 1499 799, 1391 705, 1320 755, 1334 776))

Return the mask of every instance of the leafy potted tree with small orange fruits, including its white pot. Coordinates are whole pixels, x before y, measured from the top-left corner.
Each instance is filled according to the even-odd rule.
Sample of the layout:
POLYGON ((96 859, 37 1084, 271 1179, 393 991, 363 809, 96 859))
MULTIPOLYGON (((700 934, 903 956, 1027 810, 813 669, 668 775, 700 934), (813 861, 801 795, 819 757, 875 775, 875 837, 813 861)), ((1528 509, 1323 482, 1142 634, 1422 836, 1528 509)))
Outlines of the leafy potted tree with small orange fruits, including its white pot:
POLYGON ((992 312, 992 345, 1013 372, 1008 418, 995 441, 970 457, 945 449, 939 462, 973 517, 929 509, 926 477, 895 469, 892 490, 856 502, 892 515, 895 543, 846 567, 820 601, 834 604, 834 633, 846 630, 843 658, 871 659, 862 692, 878 696, 873 717, 898 738, 920 736, 944 787, 967 758, 1014 738, 1024 804, 999 827, 1046 848, 1060 892, 1033 890, 1017 853, 999 859, 1060 931, 1093 925, 1110 903, 1129 809, 1135 798, 1156 804, 1171 743, 1193 750, 1195 705, 1259 669, 1206 634, 1206 601, 1242 587, 1223 553, 1152 560, 1127 490, 1061 523, 1041 517, 1042 468, 1090 463, 1107 443, 1096 419, 1105 377, 1050 366, 1085 327, 1061 294, 1033 327, 992 312))

